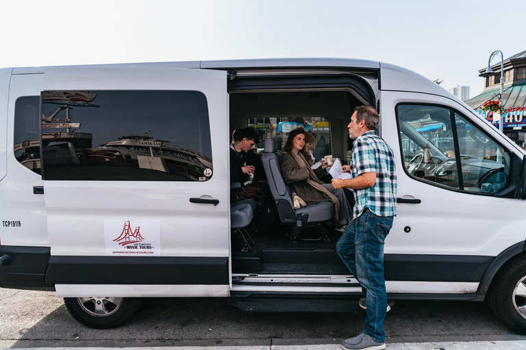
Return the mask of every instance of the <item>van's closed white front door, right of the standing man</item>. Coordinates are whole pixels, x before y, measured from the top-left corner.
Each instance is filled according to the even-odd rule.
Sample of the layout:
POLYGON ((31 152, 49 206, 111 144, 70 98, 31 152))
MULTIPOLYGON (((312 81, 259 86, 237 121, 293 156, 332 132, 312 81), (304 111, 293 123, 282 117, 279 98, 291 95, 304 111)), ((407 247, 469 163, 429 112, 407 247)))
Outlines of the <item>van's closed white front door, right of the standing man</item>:
MULTIPOLYGON (((427 157, 428 152, 440 156, 437 164, 429 162, 429 166, 432 167, 438 165, 445 167, 447 163, 451 163, 450 168, 456 168, 455 159, 459 157, 448 156, 449 150, 440 154, 440 150, 436 149, 432 142, 427 143, 425 140, 421 142, 421 148, 418 148, 414 146, 418 144, 418 139, 410 140, 413 142, 411 145, 414 146, 414 154, 410 154, 409 157, 408 154, 403 154, 403 147, 410 149, 413 146, 406 144, 402 146, 401 137, 405 137, 404 142, 408 142, 408 135, 412 137, 411 133, 418 138, 418 133, 414 130, 419 130, 420 133, 426 132, 429 135, 446 132, 445 125, 431 122, 433 116, 425 120, 429 122, 428 124, 417 124, 414 121, 410 123, 411 127, 408 126, 404 130, 397 125, 399 117, 396 113, 397 106, 404 104, 425 105, 429 107, 427 108, 429 113, 433 113, 433 109, 454 111, 454 116, 457 118, 455 124, 458 128, 464 125, 464 127, 468 126, 467 129, 479 129, 481 134, 488 136, 488 139, 498 141, 498 136, 494 137, 484 122, 477 121, 470 111, 453 100, 431 94, 381 92, 382 137, 395 152, 398 198, 408 200, 398 203, 397 217, 386 239, 386 279, 479 282, 495 256, 508 247, 524 241, 522 232, 526 219, 520 219, 521 215, 518 215, 521 213, 519 208, 524 205, 524 202, 514 198, 499 198, 492 196, 491 193, 482 193, 491 190, 488 187, 492 185, 489 184, 490 181, 479 181, 481 183, 477 187, 477 179, 470 180, 470 176, 477 176, 475 174, 479 169, 477 166, 495 163, 494 157, 499 157, 498 154, 497 156, 489 154, 489 151, 486 152, 488 154, 483 154, 484 146, 479 146, 481 152, 479 157, 464 156, 460 150, 461 160, 459 162, 479 164, 468 170, 467 166, 462 163, 463 186, 466 187, 466 191, 455 188, 459 186, 458 183, 455 184, 453 181, 455 179, 450 178, 450 174, 446 171, 443 176, 444 182, 437 180, 440 177, 437 175, 440 173, 439 170, 434 171, 434 177, 428 177, 433 180, 418 178, 414 174, 415 171, 418 172, 414 163, 422 163, 420 158, 427 157), (407 159, 404 160, 404 156, 407 159), (411 157, 413 159, 410 159, 411 157), (488 159, 493 159, 493 161, 488 159), (473 187, 470 188, 470 185, 473 187), (475 191, 480 191, 480 193, 475 191), (416 203, 413 200, 421 200, 421 202, 416 203), (510 210, 511 207, 516 207, 517 210, 510 210), (429 271, 434 271, 434 273, 431 275, 429 271)), ((468 130, 462 135, 461 137, 466 138, 475 134, 469 133, 468 130)), ((484 135, 478 137, 484 138, 484 135)), ((451 139, 453 136, 458 137, 451 135, 451 139)), ((446 138, 442 138, 442 141, 444 139, 446 138)), ((453 153, 451 154, 455 154, 455 151, 459 152, 458 149, 452 148, 453 153)), ((518 159, 520 155, 515 151, 504 150, 507 152, 505 156, 518 159)), ((500 171, 502 172, 502 169, 500 171)), ((516 171, 516 169, 512 168, 511 171, 516 171)), ((498 176, 499 169, 495 169, 494 174, 498 176)), ((421 177, 425 178, 425 176, 421 177)), ((460 289, 457 292, 469 293, 465 289, 460 289)))

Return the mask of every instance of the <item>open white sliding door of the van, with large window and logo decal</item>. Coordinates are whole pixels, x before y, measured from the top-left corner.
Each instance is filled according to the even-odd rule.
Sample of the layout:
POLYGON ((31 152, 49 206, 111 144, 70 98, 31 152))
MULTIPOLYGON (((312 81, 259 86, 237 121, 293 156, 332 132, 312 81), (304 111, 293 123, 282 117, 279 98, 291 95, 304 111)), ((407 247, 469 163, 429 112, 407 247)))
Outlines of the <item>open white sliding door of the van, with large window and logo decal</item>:
POLYGON ((49 68, 41 108, 58 295, 229 295, 226 72, 49 68))

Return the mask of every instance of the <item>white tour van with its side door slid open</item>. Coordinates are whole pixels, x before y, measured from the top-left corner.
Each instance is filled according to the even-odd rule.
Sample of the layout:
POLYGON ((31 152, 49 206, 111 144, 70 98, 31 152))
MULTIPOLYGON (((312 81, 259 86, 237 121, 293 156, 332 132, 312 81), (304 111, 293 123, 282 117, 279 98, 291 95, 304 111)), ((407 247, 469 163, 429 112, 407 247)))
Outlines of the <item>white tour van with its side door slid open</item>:
POLYGON ((338 232, 290 207, 275 151, 303 124, 318 156, 345 163, 358 105, 379 111, 397 163, 389 299, 487 299, 526 332, 525 152, 436 83, 359 59, 0 70, 1 286, 54 290, 99 328, 141 297, 347 310, 363 293, 338 232), (278 214, 251 235, 229 181, 231 132, 247 125, 268 138, 278 214))

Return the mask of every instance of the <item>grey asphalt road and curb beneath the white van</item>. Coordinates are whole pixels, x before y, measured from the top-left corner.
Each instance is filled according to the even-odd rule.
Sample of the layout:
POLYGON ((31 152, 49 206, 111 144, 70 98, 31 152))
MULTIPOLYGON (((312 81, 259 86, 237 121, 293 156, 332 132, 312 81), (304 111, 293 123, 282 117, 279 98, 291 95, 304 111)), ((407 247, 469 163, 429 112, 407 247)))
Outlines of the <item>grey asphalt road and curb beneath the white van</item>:
MULTIPOLYGON (((251 313, 224 298, 147 299, 114 329, 90 329, 53 292, 0 289, 1 349, 340 349, 361 314, 251 313)), ((526 349, 484 302, 397 301, 385 323, 388 349, 526 349)))

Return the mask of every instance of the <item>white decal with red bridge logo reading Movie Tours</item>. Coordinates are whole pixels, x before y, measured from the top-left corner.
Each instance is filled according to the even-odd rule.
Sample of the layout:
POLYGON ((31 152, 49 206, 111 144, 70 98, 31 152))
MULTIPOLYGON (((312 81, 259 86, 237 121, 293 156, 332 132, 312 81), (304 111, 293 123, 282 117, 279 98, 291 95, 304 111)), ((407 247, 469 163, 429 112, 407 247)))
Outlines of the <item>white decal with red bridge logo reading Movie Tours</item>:
POLYGON ((105 220, 106 255, 160 256, 159 220, 105 220))

